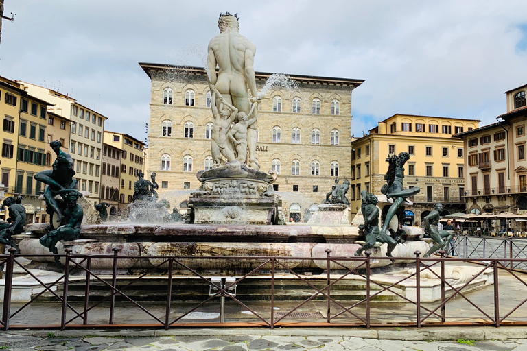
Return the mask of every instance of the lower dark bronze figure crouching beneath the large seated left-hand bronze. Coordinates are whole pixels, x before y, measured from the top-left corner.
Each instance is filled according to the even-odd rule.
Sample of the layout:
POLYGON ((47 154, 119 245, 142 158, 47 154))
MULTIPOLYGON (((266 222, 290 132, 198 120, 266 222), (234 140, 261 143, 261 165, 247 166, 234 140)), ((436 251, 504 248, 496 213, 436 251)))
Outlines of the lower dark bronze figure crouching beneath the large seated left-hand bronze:
MULTIPOLYGON (((56 245, 60 240, 71 241, 79 239, 80 224, 84 216, 82 207, 77 204, 77 200, 82 197, 82 193, 79 193, 75 189, 62 189, 58 191, 58 194, 64 199, 67 205, 62 213, 60 226, 55 230, 48 231, 40 238, 40 244, 47 247, 54 254, 58 254, 56 245)), ((55 258, 55 262, 60 267, 58 257, 55 258)))

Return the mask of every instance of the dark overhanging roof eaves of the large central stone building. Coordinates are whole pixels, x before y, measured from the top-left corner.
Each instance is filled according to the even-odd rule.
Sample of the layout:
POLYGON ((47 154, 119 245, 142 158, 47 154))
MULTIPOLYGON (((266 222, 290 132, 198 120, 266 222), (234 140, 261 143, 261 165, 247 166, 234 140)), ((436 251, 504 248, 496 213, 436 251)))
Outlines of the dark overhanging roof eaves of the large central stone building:
MULTIPOLYGON (((152 75, 150 75, 150 70, 174 70, 174 71, 180 71, 180 72, 187 72, 190 74, 196 74, 196 75, 207 75, 207 71, 203 67, 196 67, 196 66, 178 66, 174 64, 158 64, 158 63, 147 63, 147 62, 139 62, 139 66, 145 71, 145 73, 152 79, 152 75)), ((256 78, 268 78, 274 73, 268 73, 268 72, 255 72, 256 78)), ((351 79, 351 78, 339 78, 339 77, 320 77, 318 75, 294 75, 294 74, 288 74, 288 77, 290 77, 292 80, 296 80, 298 82, 318 82, 318 83, 327 83, 327 84, 341 84, 341 85, 347 85, 347 86, 360 86, 364 82, 364 80, 357 80, 357 79, 351 79)))

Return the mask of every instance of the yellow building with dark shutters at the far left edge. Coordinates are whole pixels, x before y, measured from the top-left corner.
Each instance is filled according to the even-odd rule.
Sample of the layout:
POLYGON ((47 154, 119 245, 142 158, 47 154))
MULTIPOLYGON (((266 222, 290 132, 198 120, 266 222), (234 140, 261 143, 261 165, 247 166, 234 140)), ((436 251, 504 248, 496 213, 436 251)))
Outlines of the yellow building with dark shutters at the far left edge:
POLYGON ((22 84, 3 77, 0 92, 3 95, 1 178, 8 186, 5 196, 23 196, 27 223, 46 221, 45 207, 38 199, 43 186, 34 180, 34 175, 45 169, 47 106, 51 104, 27 93, 22 84))

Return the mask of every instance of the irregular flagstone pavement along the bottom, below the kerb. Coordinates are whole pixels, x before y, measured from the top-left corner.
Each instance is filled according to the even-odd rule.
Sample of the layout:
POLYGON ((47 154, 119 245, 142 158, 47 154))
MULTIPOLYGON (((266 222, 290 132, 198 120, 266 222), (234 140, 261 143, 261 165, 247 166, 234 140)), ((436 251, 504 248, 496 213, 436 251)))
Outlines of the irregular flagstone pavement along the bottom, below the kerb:
MULTIPOLYGON (((245 330, 251 334, 251 330, 245 330)), ((89 332, 89 331, 83 331, 89 332)), ((294 334, 295 330, 288 330, 294 334)), ((451 341, 415 340, 415 332, 401 332, 397 339, 373 339, 363 337, 335 336, 291 336, 291 335, 171 335, 171 336, 100 336, 104 333, 84 336, 59 335, 40 332, 40 336, 20 335, 13 332, 0 333, 0 349, 12 351, 29 350, 126 350, 126 351, 257 351, 257 350, 360 350, 360 351, 527 351, 527 339, 457 339, 451 341), (46 336, 47 335, 47 336, 46 336)), ((38 335, 39 333, 37 333, 38 335)), ((126 333, 125 333, 126 334, 126 333)), ((133 333, 129 333, 132 335, 133 333)), ((141 335, 141 332, 137 332, 141 335)), ((301 332, 300 334, 305 334, 301 332)), ((314 334, 323 334, 320 330, 314 334)), ((66 334, 67 335, 67 334, 66 334)), ((72 334, 70 334, 72 335, 72 334)), ((478 334, 476 334, 478 335, 478 334)), ((470 336, 470 335, 469 335, 470 336)), ((421 339, 426 334, 421 333, 421 339)), ((526 335, 527 337, 527 335, 526 335)))

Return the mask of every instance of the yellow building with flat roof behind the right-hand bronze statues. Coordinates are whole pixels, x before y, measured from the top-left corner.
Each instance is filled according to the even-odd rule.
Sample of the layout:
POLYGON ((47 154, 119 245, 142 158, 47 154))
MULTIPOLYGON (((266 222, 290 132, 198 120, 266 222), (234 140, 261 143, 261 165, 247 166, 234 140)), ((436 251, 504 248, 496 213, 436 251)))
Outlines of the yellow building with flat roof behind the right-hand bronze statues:
POLYGON ((361 205, 360 192, 380 194, 386 183, 388 155, 408 152, 405 187, 419 186, 420 193, 408 209, 406 223, 420 223, 434 204, 445 204, 443 215, 465 210, 465 151, 454 134, 478 128, 479 120, 394 114, 353 141, 351 187, 352 213, 361 205))

